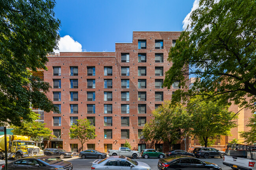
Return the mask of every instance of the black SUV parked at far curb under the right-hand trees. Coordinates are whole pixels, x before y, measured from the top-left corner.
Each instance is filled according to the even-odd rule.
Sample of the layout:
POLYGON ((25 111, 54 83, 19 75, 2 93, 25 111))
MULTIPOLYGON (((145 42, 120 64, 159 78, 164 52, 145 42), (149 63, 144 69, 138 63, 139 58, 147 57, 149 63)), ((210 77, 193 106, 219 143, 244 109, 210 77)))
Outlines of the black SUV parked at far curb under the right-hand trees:
POLYGON ((225 152, 219 151, 215 148, 195 148, 193 150, 193 154, 198 157, 204 157, 205 159, 209 157, 221 157, 223 158, 225 155, 225 152))

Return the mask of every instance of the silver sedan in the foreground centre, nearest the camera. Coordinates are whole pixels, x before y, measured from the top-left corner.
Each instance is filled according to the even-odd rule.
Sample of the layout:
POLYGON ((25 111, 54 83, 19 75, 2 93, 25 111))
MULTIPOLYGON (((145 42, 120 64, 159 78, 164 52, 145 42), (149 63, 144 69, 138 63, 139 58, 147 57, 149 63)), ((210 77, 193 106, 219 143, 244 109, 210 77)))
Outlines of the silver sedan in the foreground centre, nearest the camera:
POLYGON ((110 156, 95 160, 91 170, 151 170, 150 166, 140 161, 134 161, 125 156, 110 156))

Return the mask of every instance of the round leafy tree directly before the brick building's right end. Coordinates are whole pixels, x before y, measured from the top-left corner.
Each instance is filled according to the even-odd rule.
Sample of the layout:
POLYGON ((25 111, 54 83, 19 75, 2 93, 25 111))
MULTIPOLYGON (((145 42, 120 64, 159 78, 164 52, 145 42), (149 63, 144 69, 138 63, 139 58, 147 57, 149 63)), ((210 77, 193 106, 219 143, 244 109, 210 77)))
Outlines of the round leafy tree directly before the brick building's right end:
POLYGON ((154 119, 147 122, 143 128, 146 141, 162 140, 171 147, 181 141, 185 133, 190 130, 190 117, 181 104, 171 107, 170 101, 165 101, 152 111, 154 119))

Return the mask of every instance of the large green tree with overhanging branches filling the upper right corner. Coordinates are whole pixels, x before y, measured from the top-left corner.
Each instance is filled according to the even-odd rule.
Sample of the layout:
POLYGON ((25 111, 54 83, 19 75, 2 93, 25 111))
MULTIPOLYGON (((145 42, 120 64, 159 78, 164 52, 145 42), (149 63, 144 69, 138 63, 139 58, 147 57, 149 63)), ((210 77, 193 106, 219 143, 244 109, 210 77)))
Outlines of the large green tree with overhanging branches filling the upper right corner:
POLYGON ((170 88, 180 80, 186 87, 189 75, 198 79, 192 90, 175 91, 172 101, 218 96, 221 103, 251 107, 256 102, 256 1, 199 0, 189 20, 191 24, 170 49, 172 66, 164 86, 170 88))

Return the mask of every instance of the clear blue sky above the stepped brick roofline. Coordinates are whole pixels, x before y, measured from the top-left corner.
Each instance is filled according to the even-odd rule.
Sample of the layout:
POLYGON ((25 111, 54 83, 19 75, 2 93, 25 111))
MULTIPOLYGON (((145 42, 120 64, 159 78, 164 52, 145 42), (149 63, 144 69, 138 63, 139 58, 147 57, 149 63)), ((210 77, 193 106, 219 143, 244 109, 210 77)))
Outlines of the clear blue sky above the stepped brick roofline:
POLYGON ((56 0, 59 49, 115 51, 115 42, 132 42, 132 31, 182 31, 194 1, 56 0))

